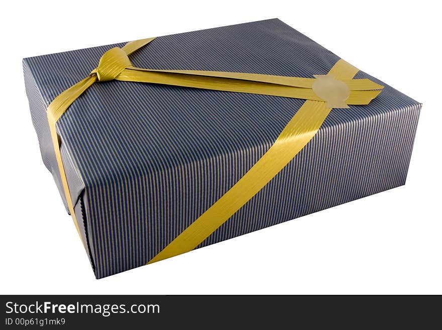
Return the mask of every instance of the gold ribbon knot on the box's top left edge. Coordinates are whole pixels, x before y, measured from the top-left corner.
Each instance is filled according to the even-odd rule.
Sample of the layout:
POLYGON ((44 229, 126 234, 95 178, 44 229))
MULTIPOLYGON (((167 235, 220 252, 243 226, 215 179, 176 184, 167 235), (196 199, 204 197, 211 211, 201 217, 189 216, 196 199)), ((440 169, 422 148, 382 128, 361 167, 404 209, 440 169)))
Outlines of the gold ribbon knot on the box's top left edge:
POLYGON ((109 49, 101 56, 96 72, 98 81, 114 80, 124 69, 131 66, 126 52, 118 47, 109 49))

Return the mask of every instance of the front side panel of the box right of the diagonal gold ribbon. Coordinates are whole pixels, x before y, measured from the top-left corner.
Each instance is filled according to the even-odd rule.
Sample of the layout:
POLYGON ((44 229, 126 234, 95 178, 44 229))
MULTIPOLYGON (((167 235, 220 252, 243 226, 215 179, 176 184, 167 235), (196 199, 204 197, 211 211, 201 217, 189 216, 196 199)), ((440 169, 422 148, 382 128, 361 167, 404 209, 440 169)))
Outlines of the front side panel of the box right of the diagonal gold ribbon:
POLYGON ((199 247, 405 184, 420 107, 320 130, 199 247))

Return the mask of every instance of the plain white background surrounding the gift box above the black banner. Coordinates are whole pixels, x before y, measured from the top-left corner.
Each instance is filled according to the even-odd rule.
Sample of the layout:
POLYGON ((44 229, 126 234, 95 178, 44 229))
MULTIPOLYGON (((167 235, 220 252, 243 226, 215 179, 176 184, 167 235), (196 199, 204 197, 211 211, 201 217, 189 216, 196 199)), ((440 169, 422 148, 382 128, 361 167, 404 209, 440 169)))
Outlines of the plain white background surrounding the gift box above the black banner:
POLYGON ((2 2, 0 293, 442 293, 441 29, 429 4, 2 2), (41 160, 22 58, 275 17, 424 103, 406 185, 95 280, 41 160))

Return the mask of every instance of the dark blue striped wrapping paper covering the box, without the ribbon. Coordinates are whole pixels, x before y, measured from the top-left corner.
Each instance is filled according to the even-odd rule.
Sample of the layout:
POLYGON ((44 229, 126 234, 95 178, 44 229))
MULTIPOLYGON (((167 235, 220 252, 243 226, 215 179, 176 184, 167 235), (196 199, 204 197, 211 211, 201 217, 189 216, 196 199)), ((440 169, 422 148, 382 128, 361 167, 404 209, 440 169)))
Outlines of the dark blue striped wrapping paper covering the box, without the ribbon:
MULTIPOLYGON (((46 108, 106 50, 124 44, 23 60, 43 162, 63 200, 46 108)), ((339 57, 272 19, 159 37, 130 59, 153 69, 312 77, 326 74, 339 57)), ((198 247, 405 183, 421 104, 364 72, 355 78, 385 88, 369 105, 333 109, 310 143, 198 247)), ((60 118, 57 132, 96 278, 152 259, 258 161, 303 102, 115 80, 93 84, 60 118)))

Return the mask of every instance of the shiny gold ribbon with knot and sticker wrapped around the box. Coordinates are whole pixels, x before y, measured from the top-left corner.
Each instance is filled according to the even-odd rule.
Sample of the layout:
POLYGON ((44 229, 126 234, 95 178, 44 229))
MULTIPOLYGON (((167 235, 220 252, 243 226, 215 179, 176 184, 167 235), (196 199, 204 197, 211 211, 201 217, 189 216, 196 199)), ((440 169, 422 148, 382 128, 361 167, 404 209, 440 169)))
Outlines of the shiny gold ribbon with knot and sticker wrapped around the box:
MULTIPOLYGON (((260 191, 317 133, 333 107, 368 104, 383 86, 369 79, 353 79, 358 69, 339 60, 327 75, 315 78, 255 73, 154 70, 132 66, 128 55, 155 38, 129 42, 101 57, 88 77, 58 95, 48 106, 47 116, 61 181, 78 233, 69 187, 60 155, 56 123, 70 104, 96 81, 121 80, 183 87, 301 98, 299 108, 270 149, 222 197, 148 263, 170 258, 196 248, 260 191)), ((80 235, 81 237, 81 235, 80 235)), ((85 242, 83 244, 86 246, 85 242)))

